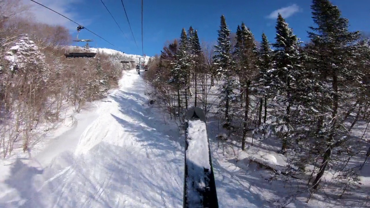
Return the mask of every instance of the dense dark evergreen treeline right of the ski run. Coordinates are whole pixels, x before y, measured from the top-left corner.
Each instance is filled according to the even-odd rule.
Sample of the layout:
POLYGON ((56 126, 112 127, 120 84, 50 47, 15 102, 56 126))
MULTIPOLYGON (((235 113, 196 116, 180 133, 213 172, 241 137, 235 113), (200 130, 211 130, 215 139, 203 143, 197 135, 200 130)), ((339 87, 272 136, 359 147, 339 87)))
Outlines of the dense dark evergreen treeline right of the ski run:
POLYGON ((183 28, 150 60, 145 77, 171 118, 184 123, 189 107, 209 114, 217 106, 213 113, 242 150, 248 135, 277 138, 296 173, 315 167, 307 184, 312 193, 330 167, 341 172, 342 196, 365 162, 349 164, 370 156, 370 39, 349 31, 349 20, 329 0, 313 0, 311 9, 315 26, 305 44, 280 14, 272 43, 261 34, 257 45, 244 23, 232 35, 225 16, 215 45, 200 44, 197 30, 183 28), (362 136, 354 135, 359 128, 362 136))

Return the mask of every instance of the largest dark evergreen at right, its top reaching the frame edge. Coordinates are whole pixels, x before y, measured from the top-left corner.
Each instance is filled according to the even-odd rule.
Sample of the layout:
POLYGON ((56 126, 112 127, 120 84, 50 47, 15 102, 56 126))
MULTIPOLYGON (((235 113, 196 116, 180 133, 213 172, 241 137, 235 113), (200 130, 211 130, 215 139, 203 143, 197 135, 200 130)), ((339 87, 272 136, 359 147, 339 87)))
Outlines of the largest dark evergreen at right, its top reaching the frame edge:
MULTIPOLYGON (((350 137, 350 131, 363 107, 361 103, 356 103, 363 74, 354 61, 359 56, 359 45, 353 44, 360 39, 359 31, 349 31, 348 19, 342 17, 338 7, 329 0, 313 0, 311 9, 312 19, 317 25, 310 27, 312 32, 308 33, 313 43, 309 53, 313 61, 310 70, 315 72, 317 81, 314 89, 317 102, 312 112, 317 121, 313 130, 317 141, 314 148, 323 158, 312 182, 313 189, 316 189, 329 161, 335 162, 336 150, 351 145, 350 142, 356 144, 356 140, 350 137)), ((344 148, 341 151, 342 159, 351 154, 348 150, 344 148)))

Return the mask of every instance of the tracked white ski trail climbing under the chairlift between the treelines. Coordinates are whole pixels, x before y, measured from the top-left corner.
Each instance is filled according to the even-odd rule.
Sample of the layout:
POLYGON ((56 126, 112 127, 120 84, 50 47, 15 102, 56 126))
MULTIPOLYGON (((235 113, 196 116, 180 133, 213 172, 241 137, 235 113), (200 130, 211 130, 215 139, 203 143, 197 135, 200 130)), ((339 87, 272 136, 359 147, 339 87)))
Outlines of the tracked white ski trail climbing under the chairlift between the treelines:
MULTIPOLYGON (((182 207, 184 138, 145 104, 146 84, 135 70, 125 71, 119 84, 33 162, 11 165, 0 181, 0 207, 182 207)), ((220 208, 264 207, 229 165, 213 163, 220 208)))

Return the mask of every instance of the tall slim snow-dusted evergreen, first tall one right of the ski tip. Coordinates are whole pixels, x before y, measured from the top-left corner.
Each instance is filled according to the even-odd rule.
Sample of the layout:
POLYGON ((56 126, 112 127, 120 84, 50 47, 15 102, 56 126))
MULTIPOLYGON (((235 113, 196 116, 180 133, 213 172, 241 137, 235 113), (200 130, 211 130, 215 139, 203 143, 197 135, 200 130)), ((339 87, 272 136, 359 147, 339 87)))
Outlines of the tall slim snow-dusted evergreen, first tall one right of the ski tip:
POLYGON ((212 58, 215 67, 218 67, 219 76, 223 77, 219 112, 225 112, 225 126, 231 125, 230 104, 235 99, 233 92, 235 80, 232 77, 234 73, 232 72, 233 61, 231 57, 230 31, 226 24, 225 16, 222 15, 220 29, 218 30, 218 44, 215 45, 215 55, 212 58))

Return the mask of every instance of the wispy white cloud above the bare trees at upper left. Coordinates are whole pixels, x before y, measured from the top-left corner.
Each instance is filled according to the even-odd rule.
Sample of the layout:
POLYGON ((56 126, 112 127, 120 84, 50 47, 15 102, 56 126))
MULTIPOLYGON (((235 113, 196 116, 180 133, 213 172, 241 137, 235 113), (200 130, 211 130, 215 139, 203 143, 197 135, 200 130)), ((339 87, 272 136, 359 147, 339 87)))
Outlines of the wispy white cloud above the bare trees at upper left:
MULTIPOLYGON (((72 21, 60 16, 59 14, 46 9, 30 0, 22 0, 24 4, 29 5, 32 18, 40 23, 46 23, 50 25, 63 25, 68 29, 73 29, 77 27, 72 21)), ((49 7, 57 11, 60 14, 68 17, 69 19, 76 21, 77 23, 85 24, 88 23, 87 20, 81 19, 79 14, 75 11, 71 11, 70 8, 75 7, 75 4, 81 2, 81 0, 36 0, 38 3, 49 7)))

